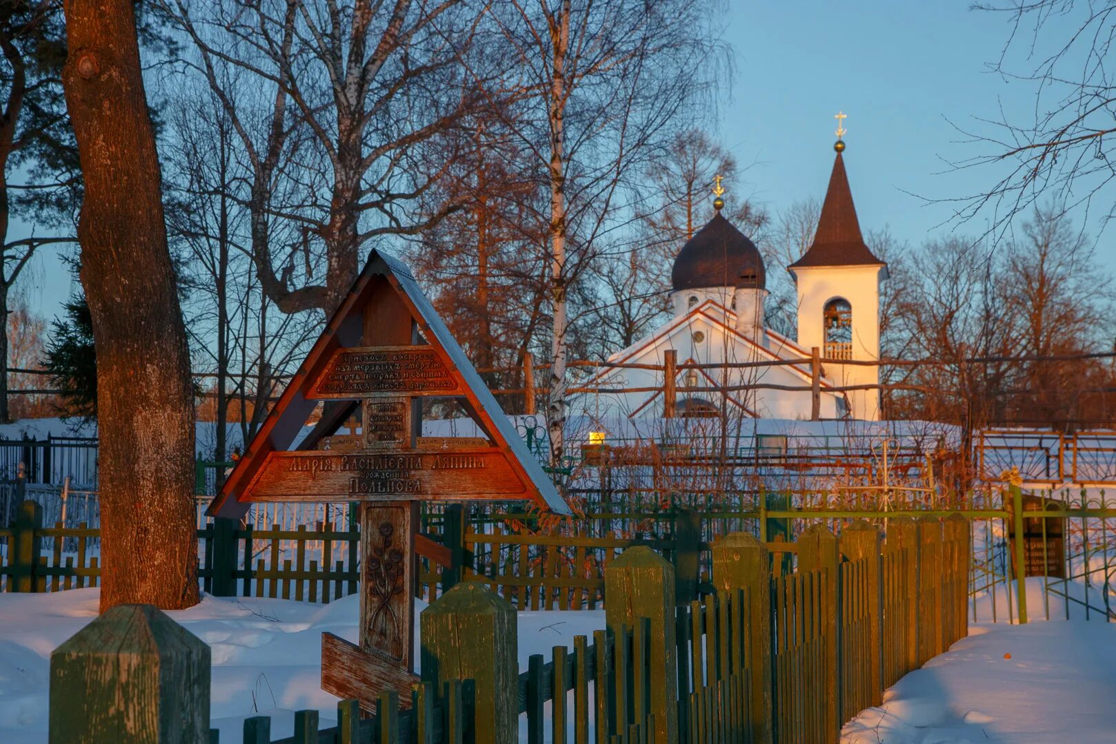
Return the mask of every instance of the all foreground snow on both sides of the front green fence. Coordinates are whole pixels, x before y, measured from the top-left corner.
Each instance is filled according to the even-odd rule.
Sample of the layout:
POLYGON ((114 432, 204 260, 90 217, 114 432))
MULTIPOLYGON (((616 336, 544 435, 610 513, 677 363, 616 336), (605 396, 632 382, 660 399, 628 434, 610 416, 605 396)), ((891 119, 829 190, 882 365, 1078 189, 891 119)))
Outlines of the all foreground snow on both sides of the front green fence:
MULTIPOLYGON (((998 597, 1001 618, 1007 617, 998 597)), ((47 741, 50 651, 89 622, 98 590, 0 595, 0 742, 47 741)), ((991 617, 987 599, 981 617, 991 617)), ((421 605, 421 603, 420 603, 421 605)), ((908 674, 879 708, 845 726, 847 744, 1116 742, 1116 624, 1042 620, 1041 581, 1028 587, 1031 624, 981 622, 908 674), (1010 656, 1008 656, 1010 655, 1010 656)), ((357 598, 331 605, 215 598, 171 616, 213 649, 212 725, 239 742, 250 715, 289 736, 294 712, 317 708, 333 725, 337 699, 319 686, 321 631, 356 640, 357 598)), ((1080 612, 1075 611, 1075 616, 1080 612)), ((1060 607, 1051 616, 1061 617, 1060 607)), ((519 613, 519 661, 604 627, 604 612, 519 613)))

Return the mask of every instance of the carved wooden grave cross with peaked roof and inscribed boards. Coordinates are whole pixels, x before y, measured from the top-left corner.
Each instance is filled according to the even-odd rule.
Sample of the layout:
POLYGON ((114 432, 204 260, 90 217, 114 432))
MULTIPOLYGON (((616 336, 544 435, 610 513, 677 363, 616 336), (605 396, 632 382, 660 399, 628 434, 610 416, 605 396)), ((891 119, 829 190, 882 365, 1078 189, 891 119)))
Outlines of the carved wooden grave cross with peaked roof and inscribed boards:
POLYGON ((358 502, 359 639, 323 634, 323 688, 374 708, 384 689, 410 702, 419 503, 530 500, 568 513, 461 348, 398 261, 373 253, 210 508, 358 502), (453 397, 484 437, 422 437, 422 402, 453 397), (318 423, 289 450, 318 402, 318 423), (356 447, 317 448, 359 407, 356 447))

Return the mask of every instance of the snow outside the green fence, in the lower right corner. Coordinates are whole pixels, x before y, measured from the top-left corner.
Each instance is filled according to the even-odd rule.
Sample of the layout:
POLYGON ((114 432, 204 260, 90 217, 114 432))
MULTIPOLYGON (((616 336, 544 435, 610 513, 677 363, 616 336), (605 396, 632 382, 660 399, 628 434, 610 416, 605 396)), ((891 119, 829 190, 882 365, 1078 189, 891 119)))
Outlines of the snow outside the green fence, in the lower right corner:
MULTIPOLYGON (((1076 608, 1059 619, 1060 603, 1045 620, 1041 579, 1028 580, 1027 600, 1029 624, 970 625, 968 638, 846 724, 843 744, 1116 742, 1116 624, 1085 621, 1076 608)), ((988 598, 979 601, 990 618, 988 598)))

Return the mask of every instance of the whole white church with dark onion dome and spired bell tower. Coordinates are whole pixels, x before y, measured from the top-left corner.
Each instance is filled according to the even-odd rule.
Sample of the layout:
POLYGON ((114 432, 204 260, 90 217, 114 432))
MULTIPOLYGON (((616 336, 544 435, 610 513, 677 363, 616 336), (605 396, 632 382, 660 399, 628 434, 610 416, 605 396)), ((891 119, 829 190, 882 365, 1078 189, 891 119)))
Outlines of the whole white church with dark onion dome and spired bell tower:
POLYGON ((879 286, 887 264, 864 242, 845 174, 845 144, 838 141, 835 149, 814 242, 786 267, 797 287, 797 338, 764 326, 767 267, 756 244, 721 214, 719 195, 713 219, 674 261, 673 317, 609 357, 631 366, 602 369, 587 383, 612 390, 583 400, 587 410, 631 418, 810 419, 816 347, 828 360, 818 375, 818 417, 879 418, 878 388, 846 389, 877 385, 878 367, 841 363, 879 358, 879 286), (664 389, 670 376, 673 410, 664 389), (753 387, 759 384, 771 387, 753 387))

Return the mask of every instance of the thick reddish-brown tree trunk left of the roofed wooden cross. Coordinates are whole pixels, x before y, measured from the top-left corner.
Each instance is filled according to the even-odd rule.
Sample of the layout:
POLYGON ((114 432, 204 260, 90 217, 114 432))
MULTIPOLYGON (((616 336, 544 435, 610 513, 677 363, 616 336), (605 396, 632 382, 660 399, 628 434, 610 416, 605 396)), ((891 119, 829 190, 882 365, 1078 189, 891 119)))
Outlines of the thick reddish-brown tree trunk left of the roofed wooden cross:
POLYGON ((97 349, 102 611, 198 602, 194 408, 131 0, 66 0, 62 74, 85 180, 97 349))

